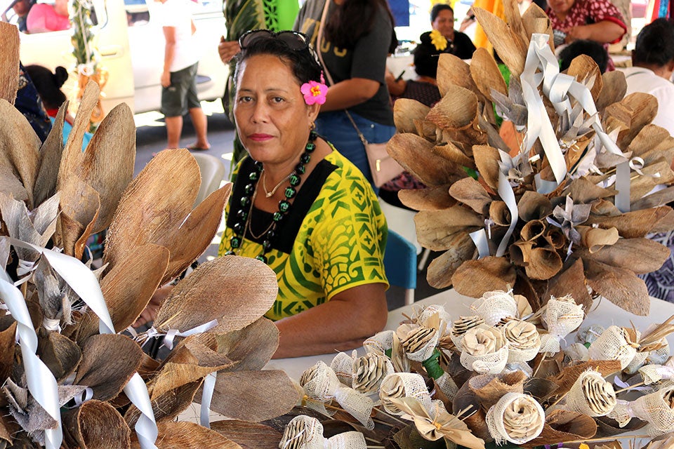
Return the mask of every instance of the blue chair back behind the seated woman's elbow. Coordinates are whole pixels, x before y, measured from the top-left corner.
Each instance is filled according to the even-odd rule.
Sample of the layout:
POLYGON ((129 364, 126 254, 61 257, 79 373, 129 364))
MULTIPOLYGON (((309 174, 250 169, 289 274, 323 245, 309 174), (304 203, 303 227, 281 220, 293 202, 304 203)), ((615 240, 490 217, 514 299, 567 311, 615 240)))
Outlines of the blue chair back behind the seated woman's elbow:
POLYGON ((405 304, 413 303, 416 288, 416 246, 390 229, 384 252, 384 270, 390 285, 407 289, 405 304))

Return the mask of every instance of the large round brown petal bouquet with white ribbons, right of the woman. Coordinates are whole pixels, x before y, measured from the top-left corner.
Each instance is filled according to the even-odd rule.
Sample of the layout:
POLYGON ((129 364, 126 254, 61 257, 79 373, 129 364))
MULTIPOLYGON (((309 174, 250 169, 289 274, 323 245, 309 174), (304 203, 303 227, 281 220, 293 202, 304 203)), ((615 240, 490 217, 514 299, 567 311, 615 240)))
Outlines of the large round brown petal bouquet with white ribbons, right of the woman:
POLYGON ((654 97, 625 96, 621 72, 602 75, 581 55, 561 74, 540 8, 520 17, 515 1, 504 6, 507 24, 475 15, 508 83, 483 48, 470 65, 442 54, 440 102, 395 102, 388 152, 427 186, 399 198, 419 211, 421 246, 442 252, 428 281, 470 297, 510 285, 534 311, 571 294, 586 309, 603 296, 645 315, 636 275, 669 254, 647 235, 674 227, 674 188, 654 189, 674 180, 674 138, 650 123, 654 97), (510 145, 501 119, 517 130, 510 145))

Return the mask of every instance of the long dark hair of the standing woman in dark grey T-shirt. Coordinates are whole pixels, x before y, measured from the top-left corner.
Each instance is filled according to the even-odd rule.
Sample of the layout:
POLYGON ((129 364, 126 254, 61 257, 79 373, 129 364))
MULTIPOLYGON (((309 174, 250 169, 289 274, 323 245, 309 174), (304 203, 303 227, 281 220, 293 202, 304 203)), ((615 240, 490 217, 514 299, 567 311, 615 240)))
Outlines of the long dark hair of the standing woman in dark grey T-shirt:
POLYGON ((343 0, 325 24, 326 39, 337 48, 354 48, 358 39, 372 31, 381 9, 394 26, 395 19, 386 0, 343 0))

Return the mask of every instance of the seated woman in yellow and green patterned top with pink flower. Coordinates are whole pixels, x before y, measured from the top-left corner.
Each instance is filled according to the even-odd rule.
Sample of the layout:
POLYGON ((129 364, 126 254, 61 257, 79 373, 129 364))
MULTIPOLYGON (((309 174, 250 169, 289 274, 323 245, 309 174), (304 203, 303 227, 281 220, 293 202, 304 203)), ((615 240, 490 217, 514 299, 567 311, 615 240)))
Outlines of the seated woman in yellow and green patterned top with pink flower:
POLYGON ((312 131, 322 72, 306 36, 256 30, 239 43, 234 116, 249 156, 220 255, 277 273, 275 357, 358 347, 386 323, 385 218, 362 173, 312 131))

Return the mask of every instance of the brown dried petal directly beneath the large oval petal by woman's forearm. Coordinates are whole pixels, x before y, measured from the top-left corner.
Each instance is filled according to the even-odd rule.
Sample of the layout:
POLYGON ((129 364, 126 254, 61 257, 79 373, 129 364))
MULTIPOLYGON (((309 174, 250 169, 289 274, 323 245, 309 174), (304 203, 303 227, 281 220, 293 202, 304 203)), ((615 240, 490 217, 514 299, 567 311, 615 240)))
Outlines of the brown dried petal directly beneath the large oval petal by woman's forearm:
POLYGON ((264 317, 240 330, 220 333, 216 326, 208 334, 213 335, 216 351, 238 362, 231 368, 236 371, 261 370, 279 347, 279 328, 264 317))

